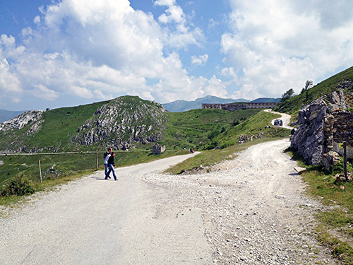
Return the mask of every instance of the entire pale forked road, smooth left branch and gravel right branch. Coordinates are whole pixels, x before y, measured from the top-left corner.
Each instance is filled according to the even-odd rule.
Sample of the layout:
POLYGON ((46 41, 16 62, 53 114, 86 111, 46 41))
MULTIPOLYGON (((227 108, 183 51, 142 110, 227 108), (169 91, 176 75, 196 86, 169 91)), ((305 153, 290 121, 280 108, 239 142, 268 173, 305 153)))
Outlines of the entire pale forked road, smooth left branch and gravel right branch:
POLYGON ((252 146, 208 174, 160 174, 186 155, 35 194, 1 210, 0 264, 336 264, 287 146, 252 146))

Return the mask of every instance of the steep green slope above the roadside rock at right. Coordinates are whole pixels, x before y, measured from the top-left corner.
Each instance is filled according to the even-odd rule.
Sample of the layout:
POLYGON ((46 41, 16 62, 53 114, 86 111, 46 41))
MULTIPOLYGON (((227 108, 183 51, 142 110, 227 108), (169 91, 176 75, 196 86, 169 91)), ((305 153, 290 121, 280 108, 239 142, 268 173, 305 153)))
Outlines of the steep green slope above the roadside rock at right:
POLYGON ((324 95, 329 95, 331 92, 339 88, 345 90, 345 95, 347 96, 346 101, 349 105, 352 105, 353 100, 351 98, 352 96, 349 95, 349 92, 353 91, 353 67, 318 83, 316 86, 313 86, 313 88, 310 88, 308 93, 304 92, 289 98, 285 102, 278 104, 274 110, 278 112, 287 112, 289 114, 294 114, 295 116, 302 105, 308 105, 311 101, 321 98, 324 95))

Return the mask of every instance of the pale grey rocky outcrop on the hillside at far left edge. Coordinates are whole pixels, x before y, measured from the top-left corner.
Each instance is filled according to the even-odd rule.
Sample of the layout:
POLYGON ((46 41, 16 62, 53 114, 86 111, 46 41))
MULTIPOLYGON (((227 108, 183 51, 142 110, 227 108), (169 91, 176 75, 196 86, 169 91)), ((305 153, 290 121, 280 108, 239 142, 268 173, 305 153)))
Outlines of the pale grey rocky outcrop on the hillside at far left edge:
POLYGON ((40 121, 40 119, 42 119, 42 114, 42 110, 30 110, 20 114, 17 117, 0 124, 0 131, 20 130, 28 124, 33 124, 28 130, 28 134, 39 131, 40 124, 43 122, 42 120, 40 121))

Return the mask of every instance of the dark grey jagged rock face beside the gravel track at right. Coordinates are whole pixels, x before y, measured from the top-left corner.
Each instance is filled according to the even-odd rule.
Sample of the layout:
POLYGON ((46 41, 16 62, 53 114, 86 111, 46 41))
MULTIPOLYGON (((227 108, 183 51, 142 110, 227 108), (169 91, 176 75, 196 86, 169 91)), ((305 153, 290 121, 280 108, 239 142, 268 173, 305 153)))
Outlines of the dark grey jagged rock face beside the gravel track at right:
POLYGON ((313 100, 310 105, 303 105, 299 111, 297 130, 291 136, 293 148, 306 163, 318 165, 322 162, 324 152, 324 123, 325 117, 335 110, 347 109, 345 95, 342 90, 330 94, 328 103, 325 98, 313 100))

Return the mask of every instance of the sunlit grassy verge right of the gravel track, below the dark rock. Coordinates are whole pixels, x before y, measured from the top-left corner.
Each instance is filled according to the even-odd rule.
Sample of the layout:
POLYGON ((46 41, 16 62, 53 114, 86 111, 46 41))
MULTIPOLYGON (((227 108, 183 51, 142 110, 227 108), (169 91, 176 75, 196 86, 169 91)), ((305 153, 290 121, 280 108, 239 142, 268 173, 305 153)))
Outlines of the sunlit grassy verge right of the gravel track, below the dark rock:
MULTIPOLYGON (((318 240, 329 247, 342 264, 353 264, 353 183, 335 182, 335 175, 342 174, 342 161, 334 172, 328 173, 321 167, 306 165, 296 153, 291 155, 301 167, 306 167, 301 173, 308 184, 306 192, 328 206, 316 215, 318 240)), ((353 170, 352 162, 348 164, 348 171, 353 170)))

